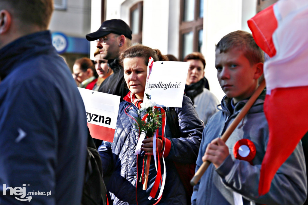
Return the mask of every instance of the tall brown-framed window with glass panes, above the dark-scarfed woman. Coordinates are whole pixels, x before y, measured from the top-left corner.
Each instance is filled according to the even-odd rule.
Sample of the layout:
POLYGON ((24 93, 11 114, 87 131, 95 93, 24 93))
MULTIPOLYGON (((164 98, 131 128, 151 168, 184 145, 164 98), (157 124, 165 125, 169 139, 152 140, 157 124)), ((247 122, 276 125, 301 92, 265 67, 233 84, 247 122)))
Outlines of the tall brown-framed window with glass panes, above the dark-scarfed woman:
POLYGON ((202 50, 203 0, 181 0, 179 58, 202 50))

